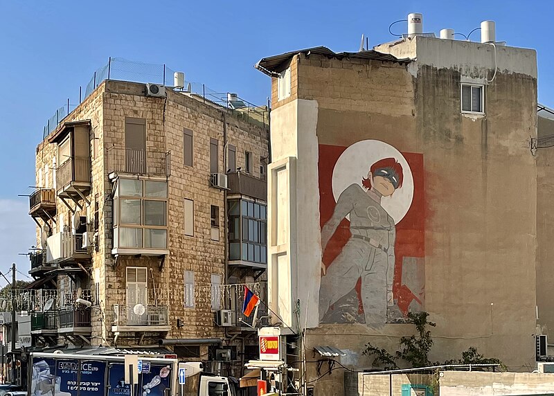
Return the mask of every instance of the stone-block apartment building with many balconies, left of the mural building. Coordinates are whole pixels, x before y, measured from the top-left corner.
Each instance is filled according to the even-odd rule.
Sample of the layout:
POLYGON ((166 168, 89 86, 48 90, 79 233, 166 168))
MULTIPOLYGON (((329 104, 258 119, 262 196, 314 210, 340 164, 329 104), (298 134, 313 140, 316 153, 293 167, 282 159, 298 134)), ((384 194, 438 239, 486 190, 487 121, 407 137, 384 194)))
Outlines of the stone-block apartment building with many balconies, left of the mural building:
POLYGON ((244 287, 265 294, 269 147, 267 107, 237 100, 106 80, 39 143, 35 346, 163 345, 240 376, 257 351, 244 287))

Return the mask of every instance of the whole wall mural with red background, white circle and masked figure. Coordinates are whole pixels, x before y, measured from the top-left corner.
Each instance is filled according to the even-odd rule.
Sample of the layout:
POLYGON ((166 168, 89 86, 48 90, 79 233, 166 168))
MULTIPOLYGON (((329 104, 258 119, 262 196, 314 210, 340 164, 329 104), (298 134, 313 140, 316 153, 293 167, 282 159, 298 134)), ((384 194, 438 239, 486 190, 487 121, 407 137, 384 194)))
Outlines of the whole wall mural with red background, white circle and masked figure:
POLYGON ((320 323, 404 323, 425 303, 422 154, 319 145, 320 323))

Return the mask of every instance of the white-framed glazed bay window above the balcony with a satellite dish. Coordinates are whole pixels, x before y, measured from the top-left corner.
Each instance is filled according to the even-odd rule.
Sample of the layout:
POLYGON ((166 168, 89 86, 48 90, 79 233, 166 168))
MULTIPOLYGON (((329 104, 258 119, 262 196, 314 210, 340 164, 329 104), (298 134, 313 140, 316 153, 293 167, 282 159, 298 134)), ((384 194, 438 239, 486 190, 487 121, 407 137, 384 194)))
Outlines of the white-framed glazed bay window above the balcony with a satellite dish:
POLYGON ((118 179, 114 249, 167 249, 168 183, 118 179))

